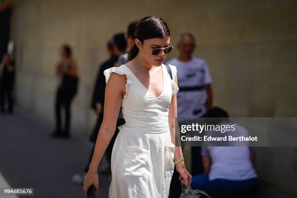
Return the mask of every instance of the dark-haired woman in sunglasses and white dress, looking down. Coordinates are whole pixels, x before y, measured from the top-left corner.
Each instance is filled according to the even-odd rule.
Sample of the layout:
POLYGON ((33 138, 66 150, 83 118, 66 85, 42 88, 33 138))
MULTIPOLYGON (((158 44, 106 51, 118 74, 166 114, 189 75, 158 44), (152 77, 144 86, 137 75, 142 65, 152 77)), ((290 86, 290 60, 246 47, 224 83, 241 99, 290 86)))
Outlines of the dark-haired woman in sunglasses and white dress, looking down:
POLYGON ((103 122, 83 190, 94 184, 99 191, 98 166, 115 132, 122 106, 126 123, 112 151, 109 198, 168 198, 174 165, 181 183, 189 187, 192 176, 175 147, 177 70, 171 80, 163 63, 170 52, 170 31, 159 17, 146 16, 135 31, 128 62, 104 70, 106 80, 103 122), (163 85, 163 86, 162 86, 163 85))

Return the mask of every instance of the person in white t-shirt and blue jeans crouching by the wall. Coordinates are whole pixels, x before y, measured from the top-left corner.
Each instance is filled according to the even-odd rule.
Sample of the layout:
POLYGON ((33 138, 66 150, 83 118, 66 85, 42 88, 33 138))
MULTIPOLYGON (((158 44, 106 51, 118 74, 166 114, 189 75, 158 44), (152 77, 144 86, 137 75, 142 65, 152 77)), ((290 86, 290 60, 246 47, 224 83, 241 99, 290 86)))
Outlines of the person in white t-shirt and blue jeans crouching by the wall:
MULTIPOLYGON (((228 113, 216 107, 205 117, 228 117, 228 113)), ((247 133, 247 130, 237 124, 236 132, 247 133)), ((258 176, 252 165, 255 152, 251 147, 209 147, 204 144, 201 155, 204 174, 193 176, 193 189, 203 190, 212 198, 252 197, 258 176)))

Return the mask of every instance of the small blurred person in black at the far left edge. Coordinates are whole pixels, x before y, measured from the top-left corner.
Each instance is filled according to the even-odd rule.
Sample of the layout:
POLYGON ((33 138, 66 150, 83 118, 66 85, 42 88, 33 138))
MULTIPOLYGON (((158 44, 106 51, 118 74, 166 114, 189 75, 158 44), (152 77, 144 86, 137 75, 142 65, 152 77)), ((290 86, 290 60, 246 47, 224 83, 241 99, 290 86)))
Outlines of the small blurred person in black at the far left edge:
POLYGON ((14 62, 10 60, 10 55, 5 53, 0 64, 0 111, 5 113, 5 100, 8 100, 8 113, 13 113, 14 100, 12 91, 15 80, 14 62))

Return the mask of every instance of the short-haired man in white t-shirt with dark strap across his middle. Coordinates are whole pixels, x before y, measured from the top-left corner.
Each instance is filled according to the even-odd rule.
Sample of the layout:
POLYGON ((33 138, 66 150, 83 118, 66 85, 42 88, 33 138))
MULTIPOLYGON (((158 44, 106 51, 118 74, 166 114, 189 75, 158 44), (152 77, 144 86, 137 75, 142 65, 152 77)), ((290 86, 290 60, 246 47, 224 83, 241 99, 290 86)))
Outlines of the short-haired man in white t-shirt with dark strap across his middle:
POLYGON ((212 79, 206 62, 193 57, 195 38, 190 33, 179 36, 178 58, 167 64, 177 67, 179 92, 177 93, 178 117, 195 119, 203 116, 212 106, 212 79))

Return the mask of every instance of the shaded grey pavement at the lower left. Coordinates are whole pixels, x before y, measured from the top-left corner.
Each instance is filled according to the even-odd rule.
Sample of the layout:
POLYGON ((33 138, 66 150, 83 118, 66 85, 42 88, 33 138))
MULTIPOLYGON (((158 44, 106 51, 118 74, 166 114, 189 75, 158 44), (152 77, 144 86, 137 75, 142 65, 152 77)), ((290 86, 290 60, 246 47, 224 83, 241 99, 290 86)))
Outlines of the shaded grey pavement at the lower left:
MULTIPOLYGON (((82 185, 73 184, 71 177, 86 165, 92 144, 79 134, 72 134, 71 140, 50 139, 52 130, 30 112, 0 115, 0 188, 7 184, 34 188, 34 196, 20 198, 85 197, 82 185)), ((99 175, 96 197, 108 197, 110 180, 111 176, 99 175)))

